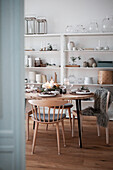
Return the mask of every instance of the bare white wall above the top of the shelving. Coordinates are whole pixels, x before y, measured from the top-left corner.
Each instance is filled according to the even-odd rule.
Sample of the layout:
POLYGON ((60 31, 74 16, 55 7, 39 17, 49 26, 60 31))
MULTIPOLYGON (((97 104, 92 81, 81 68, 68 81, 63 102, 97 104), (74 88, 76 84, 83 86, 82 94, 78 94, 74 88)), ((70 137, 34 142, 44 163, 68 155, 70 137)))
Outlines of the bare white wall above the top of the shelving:
POLYGON ((113 0, 25 0, 25 15, 45 16, 48 33, 64 32, 67 25, 88 25, 96 19, 101 25, 113 14, 113 0))

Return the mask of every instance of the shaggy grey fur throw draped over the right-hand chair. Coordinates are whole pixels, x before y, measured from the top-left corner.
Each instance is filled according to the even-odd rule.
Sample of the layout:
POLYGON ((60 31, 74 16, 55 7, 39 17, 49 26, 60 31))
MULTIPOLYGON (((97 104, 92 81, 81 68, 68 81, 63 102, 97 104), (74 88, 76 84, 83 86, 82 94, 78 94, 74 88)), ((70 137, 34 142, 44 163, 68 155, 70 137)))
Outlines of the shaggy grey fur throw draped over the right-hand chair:
MULTIPOLYGON (((108 90, 104 88, 99 88, 95 91, 94 95, 94 108, 88 107, 81 111, 82 115, 86 116, 96 116, 97 117, 97 123, 100 126, 107 127, 109 117, 106 113, 106 102, 107 102, 107 94, 108 90)), ((111 95, 109 99, 108 107, 111 104, 111 95)))

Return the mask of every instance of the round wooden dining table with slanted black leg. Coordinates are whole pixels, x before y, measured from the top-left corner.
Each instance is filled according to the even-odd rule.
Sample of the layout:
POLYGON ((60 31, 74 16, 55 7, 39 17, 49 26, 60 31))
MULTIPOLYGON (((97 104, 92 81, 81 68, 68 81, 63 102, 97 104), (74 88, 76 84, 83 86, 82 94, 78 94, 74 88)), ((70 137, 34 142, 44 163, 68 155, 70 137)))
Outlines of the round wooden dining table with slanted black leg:
POLYGON ((75 100, 76 101, 76 112, 78 119, 78 132, 79 132, 79 145, 82 148, 82 137, 81 137, 81 126, 80 126, 80 111, 81 111, 81 100, 89 99, 94 97, 94 93, 88 94, 59 94, 55 97, 40 97, 39 93, 25 93, 25 99, 45 99, 45 100, 75 100))

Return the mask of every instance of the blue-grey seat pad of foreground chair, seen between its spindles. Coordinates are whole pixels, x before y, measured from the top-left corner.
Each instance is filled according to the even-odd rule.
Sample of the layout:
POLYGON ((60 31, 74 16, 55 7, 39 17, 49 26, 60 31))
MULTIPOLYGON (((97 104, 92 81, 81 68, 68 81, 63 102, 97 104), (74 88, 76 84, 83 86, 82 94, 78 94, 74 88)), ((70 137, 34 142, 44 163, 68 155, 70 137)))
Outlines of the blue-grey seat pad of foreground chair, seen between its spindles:
MULTIPOLYGON (((31 117, 33 117, 33 114, 30 115, 31 117)), ((58 120, 60 120, 60 114, 59 114, 59 118, 58 120)), ((40 117, 41 117, 41 121, 43 122, 44 121, 44 118, 43 118, 43 113, 40 114, 40 117)), ((66 117, 66 114, 62 114, 62 119, 64 119, 66 117)), ((37 118, 39 120, 39 114, 37 113, 37 118)), ((53 121, 53 114, 50 114, 50 122, 53 121)), ((54 121, 57 121, 57 114, 55 114, 55 117, 54 117, 54 121)), ((45 114, 45 122, 48 122, 48 114, 45 114)))

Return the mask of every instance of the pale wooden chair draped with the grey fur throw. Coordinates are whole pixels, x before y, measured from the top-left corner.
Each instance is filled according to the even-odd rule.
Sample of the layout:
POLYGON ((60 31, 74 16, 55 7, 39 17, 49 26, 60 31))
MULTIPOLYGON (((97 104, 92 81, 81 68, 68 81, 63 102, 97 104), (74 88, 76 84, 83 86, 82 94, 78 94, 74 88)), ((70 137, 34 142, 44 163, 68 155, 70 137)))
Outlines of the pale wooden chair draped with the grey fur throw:
MULTIPOLYGON (((110 99, 110 92, 108 91, 107 94, 107 100, 106 100, 106 114, 108 112, 108 105, 109 105, 109 99, 110 99)), ((73 110, 73 120, 72 120, 72 136, 74 136, 74 124, 75 124, 75 116, 77 115, 76 110, 73 110)), ((83 115, 82 112, 80 111, 80 125, 81 125, 81 134, 82 134, 82 120, 83 116, 96 116, 96 115, 83 115)), ((109 144, 109 123, 108 126, 105 128, 106 131, 106 144, 109 144)), ((100 136, 100 126, 97 123, 97 134, 100 136)))

